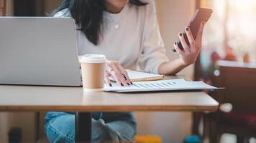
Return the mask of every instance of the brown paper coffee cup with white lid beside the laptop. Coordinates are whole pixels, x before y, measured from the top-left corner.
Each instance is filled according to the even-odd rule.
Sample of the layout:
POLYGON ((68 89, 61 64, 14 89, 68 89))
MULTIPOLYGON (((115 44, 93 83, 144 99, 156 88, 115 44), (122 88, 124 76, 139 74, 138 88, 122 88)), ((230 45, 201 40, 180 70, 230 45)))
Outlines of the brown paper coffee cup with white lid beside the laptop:
POLYGON ((86 54, 79 57, 84 92, 102 92, 106 56, 102 54, 86 54))

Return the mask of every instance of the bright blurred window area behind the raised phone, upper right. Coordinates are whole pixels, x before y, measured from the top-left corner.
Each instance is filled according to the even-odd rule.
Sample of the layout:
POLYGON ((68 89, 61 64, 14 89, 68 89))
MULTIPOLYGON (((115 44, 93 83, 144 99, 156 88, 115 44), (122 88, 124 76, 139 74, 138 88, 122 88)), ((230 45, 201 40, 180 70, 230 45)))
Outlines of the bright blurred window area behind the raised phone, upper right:
POLYGON ((256 1, 201 0, 198 6, 213 9, 214 13, 204 31, 196 77, 208 80, 214 71, 218 74, 214 66, 219 59, 250 64, 256 62, 256 1))

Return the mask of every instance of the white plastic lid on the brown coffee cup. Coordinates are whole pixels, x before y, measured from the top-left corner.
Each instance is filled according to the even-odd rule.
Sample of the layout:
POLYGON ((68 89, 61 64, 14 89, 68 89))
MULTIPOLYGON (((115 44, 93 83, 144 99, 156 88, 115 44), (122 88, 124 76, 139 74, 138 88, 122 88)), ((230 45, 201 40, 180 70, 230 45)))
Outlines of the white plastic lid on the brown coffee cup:
POLYGON ((86 54, 79 56, 79 62, 81 63, 105 63, 106 56, 104 54, 86 54))

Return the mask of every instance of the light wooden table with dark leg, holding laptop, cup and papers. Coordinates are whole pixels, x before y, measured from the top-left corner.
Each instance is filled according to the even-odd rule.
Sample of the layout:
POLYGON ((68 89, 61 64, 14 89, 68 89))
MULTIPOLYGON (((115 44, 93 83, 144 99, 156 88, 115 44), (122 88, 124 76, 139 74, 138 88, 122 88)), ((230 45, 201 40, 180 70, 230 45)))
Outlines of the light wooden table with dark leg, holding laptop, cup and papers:
POLYGON ((0 111, 76 112, 78 142, 91 139, 91 112, 214 112, 218 106, 219 103, 204 92, 117 94, 83 93, 81 87, 0 86, 0 111), (88 121, 87 124, 84 121, 88 121), (84 136, 85 132, 87 136, 84 136))

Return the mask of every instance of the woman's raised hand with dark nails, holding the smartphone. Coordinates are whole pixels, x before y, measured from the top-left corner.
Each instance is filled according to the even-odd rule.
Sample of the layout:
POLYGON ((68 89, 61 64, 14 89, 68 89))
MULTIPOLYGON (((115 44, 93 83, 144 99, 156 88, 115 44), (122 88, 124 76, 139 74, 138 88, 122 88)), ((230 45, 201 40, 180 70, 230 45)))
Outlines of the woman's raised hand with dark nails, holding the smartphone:
POLYGON ((186 35, 188 36, 189 46, 184 39, 184 35, 182 33, 178 35, 184 49, 181 50, 178 47, 178 44, 176 42, 174 44, 174 48, 180 55, 180 59, 183 62, 184 66, 193 64, 196 61, 197 56, 201 51, 204 24, 205 22, 201 23, 196 39, 193 38, 193 35, 191 34, 191 30, 188 27, 186 27, 185 31, 186 31, 186 35))

